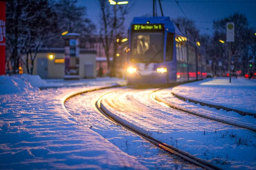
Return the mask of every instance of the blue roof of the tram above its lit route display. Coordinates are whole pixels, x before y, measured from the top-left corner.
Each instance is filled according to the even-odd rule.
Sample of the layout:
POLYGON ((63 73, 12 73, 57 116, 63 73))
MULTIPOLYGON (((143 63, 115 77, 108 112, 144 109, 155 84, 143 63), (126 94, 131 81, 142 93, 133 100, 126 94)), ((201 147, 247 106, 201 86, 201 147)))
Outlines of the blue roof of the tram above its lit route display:
POLYGON ((165 29, 168 28, 169 31, 179 34, 186 37, 185 33, 181 32, 179 27, 176 26, 170 19, 170 17, 134 17, 131 24, 146 24, 149 23, 162 23, 165 26, 165 29))

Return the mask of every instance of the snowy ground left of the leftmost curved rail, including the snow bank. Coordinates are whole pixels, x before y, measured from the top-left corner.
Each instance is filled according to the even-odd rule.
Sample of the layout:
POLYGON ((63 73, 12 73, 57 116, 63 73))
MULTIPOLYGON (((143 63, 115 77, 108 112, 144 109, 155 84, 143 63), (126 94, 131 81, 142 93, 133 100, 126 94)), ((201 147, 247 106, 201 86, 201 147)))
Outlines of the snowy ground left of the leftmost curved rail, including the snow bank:
POLYGON ((0 95, 0 169, 147 169, 81 126, 63 107, 71 94, 106 86, 104 82, 39 90, 22 78, 14 80, 12 94, 0 95))

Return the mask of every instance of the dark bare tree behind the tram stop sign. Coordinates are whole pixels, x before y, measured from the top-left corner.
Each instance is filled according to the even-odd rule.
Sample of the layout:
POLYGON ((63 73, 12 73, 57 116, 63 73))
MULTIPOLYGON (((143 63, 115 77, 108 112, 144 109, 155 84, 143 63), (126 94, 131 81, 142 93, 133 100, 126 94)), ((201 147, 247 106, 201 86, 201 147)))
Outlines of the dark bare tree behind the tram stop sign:
MULTIPOLYGON (((253 41, 253 34, 250 32, 248 20, 244 14, 234 13, 229 17, 213 21, 214 36, 212 44, 214 45, 214 53, 219 53, 217 56, 219 61, 223 61, 225 65, 228 64, 227 45, 219 43, 219 39, 226 39, 226 23, 235 23, 235 42, 232 43, 232 56, 235 63, 235 68, 241 69, 245 74, 248 69, 248 61, 250 54, 253 53, 252 48, 255 45, 253 41)), ((227 66, 224 66, 227 67, 227 66)))

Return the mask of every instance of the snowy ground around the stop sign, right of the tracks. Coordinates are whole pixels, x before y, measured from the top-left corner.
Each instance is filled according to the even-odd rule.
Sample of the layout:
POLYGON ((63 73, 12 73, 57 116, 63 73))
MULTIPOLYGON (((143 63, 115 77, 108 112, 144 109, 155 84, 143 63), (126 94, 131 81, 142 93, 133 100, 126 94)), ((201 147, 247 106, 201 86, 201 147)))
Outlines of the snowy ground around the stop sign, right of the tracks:
POLYGON ((182 84, 174 94, 209 104, 256 114, 256 82, 244 78, 207 79, 182 84))

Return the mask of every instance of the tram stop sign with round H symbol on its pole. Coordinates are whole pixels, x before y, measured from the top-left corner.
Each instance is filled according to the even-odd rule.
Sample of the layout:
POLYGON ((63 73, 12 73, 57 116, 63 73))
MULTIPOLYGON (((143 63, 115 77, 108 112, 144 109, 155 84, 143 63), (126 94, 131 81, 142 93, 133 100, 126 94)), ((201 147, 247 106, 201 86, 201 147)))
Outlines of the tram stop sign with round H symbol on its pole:
POLYGON ((229 63, 228 63, 228 70, 229 70, 229 82, 231 83, 231 42, 235 41, 235 23, 234 22, 227 22, 227 39, 226 41, 229 42, 229 63))

